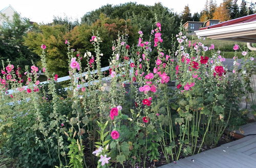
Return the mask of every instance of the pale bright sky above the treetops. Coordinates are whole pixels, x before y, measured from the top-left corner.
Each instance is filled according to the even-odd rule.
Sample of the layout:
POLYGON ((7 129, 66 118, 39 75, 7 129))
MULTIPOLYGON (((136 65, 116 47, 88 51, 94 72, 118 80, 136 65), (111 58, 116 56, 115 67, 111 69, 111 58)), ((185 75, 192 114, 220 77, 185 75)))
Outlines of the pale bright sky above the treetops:
MULTIPOLYGON (((237 4, 241 4, 238 0, 237 4)), ((50 23, 53 16, 68 16, 80 21, 80 18, 87 12, 93 11, 106 4, 118 5, 127 2, 137 2, 137 4, 154 5, 162 3, 163 6, 173 9, 174 12, 181 13, 188 5, 193 15, 204 8, 206 0, 0 0, 0 10, 11 5, 22 17, 29 18, 37 23, 50 23)), ((222 0, 216 0, 219 5, 222 0)))

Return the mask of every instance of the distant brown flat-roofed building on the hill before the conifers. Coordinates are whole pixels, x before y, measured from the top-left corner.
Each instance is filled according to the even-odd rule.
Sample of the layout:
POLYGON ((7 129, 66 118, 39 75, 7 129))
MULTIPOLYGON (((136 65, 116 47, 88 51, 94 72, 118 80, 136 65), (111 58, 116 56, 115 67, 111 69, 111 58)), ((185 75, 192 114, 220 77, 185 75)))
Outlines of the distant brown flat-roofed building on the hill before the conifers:
POLYGON ((189 35, 195 34, 195 31, 198 31, 200 28, 209 26, 209 25, 214 25, 218 24, 220 20, 215 20, 215 19, 209 19, 206 22, 202 21, 187 21, 185 22, 182 26, 185 27, 189 35))

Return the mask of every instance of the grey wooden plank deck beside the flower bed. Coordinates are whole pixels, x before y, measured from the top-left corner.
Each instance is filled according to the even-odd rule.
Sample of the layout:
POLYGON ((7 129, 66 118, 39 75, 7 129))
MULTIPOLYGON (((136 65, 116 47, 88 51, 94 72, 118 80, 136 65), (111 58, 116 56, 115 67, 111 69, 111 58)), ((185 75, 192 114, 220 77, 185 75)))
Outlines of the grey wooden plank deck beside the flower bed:
MULTIPOLYGON (((244 135, 256 134, 256 122, 241 127, 244 135)), ((256 168, 256 135, 248 135, 237 141, 201 152, 161 166, 169 167, 254 167, 256 168)))

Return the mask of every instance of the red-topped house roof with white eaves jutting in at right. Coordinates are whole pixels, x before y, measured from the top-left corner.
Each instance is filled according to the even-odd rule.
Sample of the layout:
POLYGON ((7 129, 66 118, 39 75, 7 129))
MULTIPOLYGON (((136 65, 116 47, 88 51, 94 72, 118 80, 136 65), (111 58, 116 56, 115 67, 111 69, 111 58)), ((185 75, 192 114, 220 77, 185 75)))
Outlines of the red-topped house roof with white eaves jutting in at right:
POLYGON ((256 14, 202 27, 195 33, 211 39, 256 43, 256 14))

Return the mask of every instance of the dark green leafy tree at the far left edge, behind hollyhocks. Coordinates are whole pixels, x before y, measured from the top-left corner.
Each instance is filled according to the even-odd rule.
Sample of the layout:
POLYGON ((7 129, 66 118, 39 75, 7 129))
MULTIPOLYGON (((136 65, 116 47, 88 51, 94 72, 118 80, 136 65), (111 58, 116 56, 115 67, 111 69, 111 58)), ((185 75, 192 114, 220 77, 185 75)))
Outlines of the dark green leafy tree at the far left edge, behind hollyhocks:
POLYGON ((5 19, 5 23, 0 25, 0 60, 9 59, 13 65, 24 68, 25 65, 31 65, 31 60, 39 59, 24 45, 23 37, 32 26, 28 19, 20 18, 17 13, 13 15, 13 20, 5 19))

